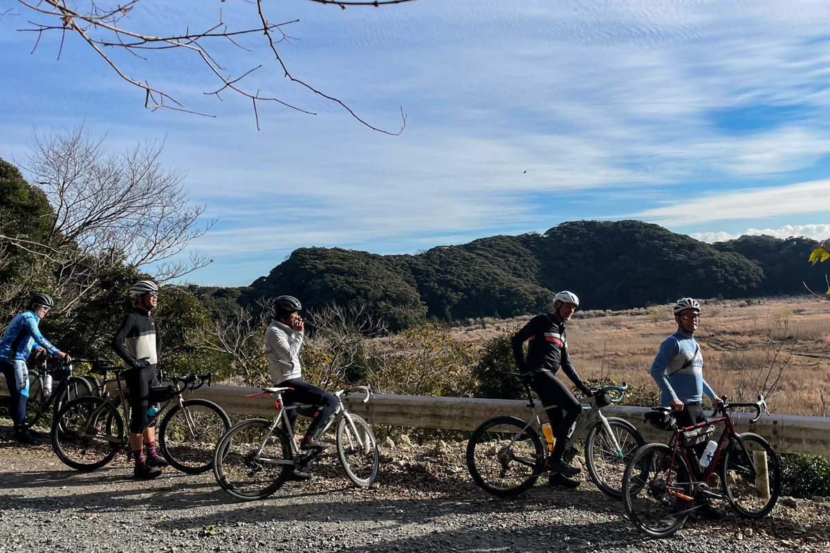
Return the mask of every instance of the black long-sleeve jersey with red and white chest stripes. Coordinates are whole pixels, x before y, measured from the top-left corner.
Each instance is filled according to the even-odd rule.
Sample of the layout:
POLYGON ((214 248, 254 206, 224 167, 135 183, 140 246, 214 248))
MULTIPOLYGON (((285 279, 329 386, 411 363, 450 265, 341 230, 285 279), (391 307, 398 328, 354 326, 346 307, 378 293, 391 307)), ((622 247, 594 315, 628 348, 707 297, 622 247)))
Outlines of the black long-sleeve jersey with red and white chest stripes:
POLYGON ((524 374, 536 371, 550 371, 555 373, 559 367, 568 378, 583 392, 590 394, 588 386, 574 369, 574 363, 568 354, 568 340, 565 337, 565 323, 557 323, 549 314, 538 315, 525 324, 510 340, 513 347, 513 357, 519 372, 524 374), (528 343, 527 359, 522 346, 528 343))

